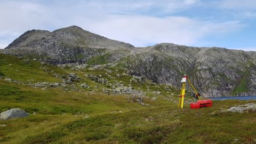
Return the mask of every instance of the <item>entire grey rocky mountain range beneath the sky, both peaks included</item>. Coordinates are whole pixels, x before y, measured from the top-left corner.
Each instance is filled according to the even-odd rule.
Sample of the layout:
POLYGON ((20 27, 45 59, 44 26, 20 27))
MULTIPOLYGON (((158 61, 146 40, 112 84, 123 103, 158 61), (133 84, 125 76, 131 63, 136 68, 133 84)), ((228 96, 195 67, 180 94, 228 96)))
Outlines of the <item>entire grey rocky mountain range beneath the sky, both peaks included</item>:
POLYGON ((256 95, 256 52, 162 43, 144 48, 114 41, 71 26, 55 31, 31 30, 6 47, 5 53, 52 64, 113 63, 137 71, 156 83, 180 86, 187 74, 203 95, 256 95))

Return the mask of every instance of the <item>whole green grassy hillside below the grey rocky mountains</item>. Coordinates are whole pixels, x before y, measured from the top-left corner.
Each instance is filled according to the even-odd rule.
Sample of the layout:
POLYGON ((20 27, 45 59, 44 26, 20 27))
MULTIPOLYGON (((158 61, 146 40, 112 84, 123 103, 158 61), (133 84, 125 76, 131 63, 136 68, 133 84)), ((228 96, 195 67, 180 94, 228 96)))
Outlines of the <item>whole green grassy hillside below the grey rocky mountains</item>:
POLYGON ((131 81, 134 77, 123 73, 111 67, 72 70, 0 54, 0 111, 29 113, 0 120, 0 143, 256 143, 255 112, 221 111, 255 101, 214 101, 213 107, 194 110, 187 97, 180 109, 177 88, 131 81), (70 73, 80 79, 63 84, 70 73), (41 82, 62 84, 36 85, 41 82), (121 84, 145 94, 111 93, 121 84))

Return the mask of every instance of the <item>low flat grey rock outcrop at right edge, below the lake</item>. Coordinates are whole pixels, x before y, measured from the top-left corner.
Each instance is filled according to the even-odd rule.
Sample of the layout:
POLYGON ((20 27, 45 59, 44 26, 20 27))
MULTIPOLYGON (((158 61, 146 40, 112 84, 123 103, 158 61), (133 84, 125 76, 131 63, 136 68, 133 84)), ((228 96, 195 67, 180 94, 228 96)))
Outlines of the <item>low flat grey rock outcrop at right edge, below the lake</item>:
POLYGON ((248 112, 248 111, 256 111, 256 103, 247 103, 245 105, 231 107, 231 108, 227 109, 227 111, 238 112, 238 113, 244 113, 244 112, 248 112))

